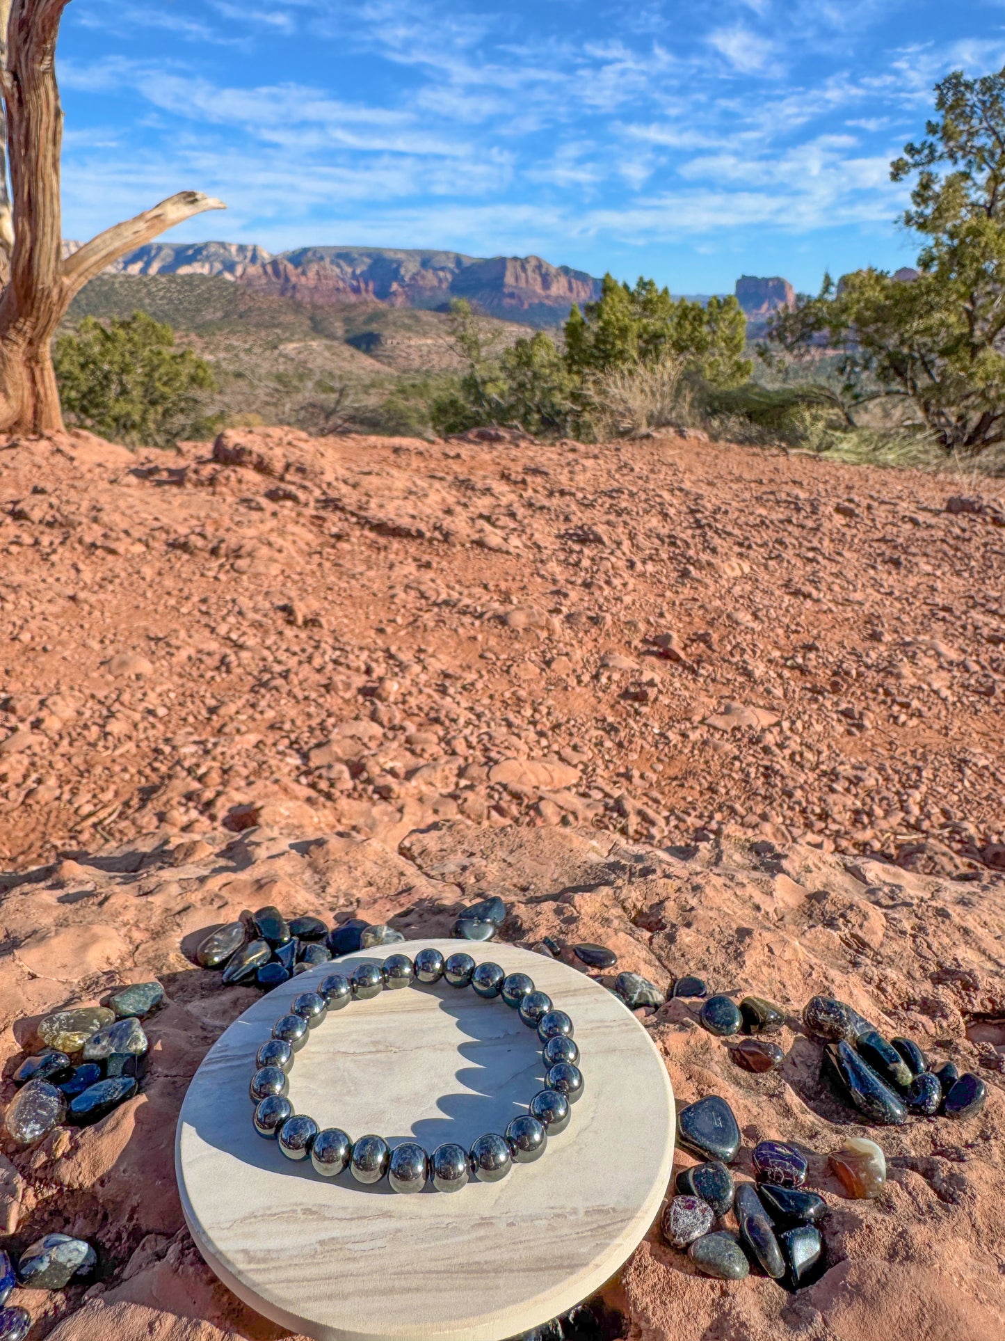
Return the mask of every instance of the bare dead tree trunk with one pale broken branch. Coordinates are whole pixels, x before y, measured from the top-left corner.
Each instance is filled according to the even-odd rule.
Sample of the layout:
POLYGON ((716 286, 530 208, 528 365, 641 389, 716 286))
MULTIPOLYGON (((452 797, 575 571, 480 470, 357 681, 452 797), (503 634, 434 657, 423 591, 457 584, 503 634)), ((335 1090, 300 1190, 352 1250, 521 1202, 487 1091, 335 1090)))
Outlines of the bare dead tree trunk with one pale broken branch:
MULTIPOLYGON (((13 186, 11 278, 0 296, 0 432, 63 428, 50 342, 75 294, 113 260, 204 209, 224 209, 184 190, 107 228, 64 261, 59 156, 63 111, 56 87, 59 20, 70 0, 9 4, 0 71, 13 186)), ((0 9, 0 19, 3 12, 0 9)))

